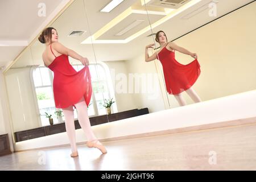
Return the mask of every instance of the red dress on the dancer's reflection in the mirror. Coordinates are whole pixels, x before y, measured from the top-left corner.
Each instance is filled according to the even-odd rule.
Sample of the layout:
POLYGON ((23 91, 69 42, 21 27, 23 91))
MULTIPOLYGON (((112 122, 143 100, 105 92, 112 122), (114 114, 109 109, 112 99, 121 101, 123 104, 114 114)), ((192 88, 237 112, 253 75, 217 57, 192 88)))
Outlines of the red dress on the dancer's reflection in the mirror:
POLYGON ((169 94, 179 94, 191 88, 201 73, 197 59, 186 65, 180 64, 175 60, 175 52, 166 47, 158 53, 158 60, 163 65, 164 81, 169 94))

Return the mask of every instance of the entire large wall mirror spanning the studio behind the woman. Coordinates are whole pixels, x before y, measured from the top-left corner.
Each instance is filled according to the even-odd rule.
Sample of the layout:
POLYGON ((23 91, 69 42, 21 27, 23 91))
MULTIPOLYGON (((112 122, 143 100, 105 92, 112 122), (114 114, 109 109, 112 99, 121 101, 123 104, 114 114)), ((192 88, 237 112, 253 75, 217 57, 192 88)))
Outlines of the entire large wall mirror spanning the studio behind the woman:
MULTIPOLYGON (((161 63, 164 56, 160 55, 163 47, 155 40, 160 30, 168 42, 197 53, 201 73, 192 88, 201 101, 256 88, 255 2, 247 1, 243 6, 246 2, 232 1, 233 6, 243 6, 232 13, 233 7, 222 9, 230 1, 163 5, 153 0, 129 0, 112 10, 104 9, 110 2, 76 0, 49 26, 56 28, 60 43, 90 61, 93 94, 88 114, 90 119, 98 118, 93 125, 180 106, 167 92, 161 63), (148 56, 156 52, 160 61, 145 61, 149 44, 154 46, 148 48, 148 56), (109 101, 113 104, 107 109, 109 101)), ((36 137, 65 131, 65 118, 56 114, 59 110, 53 100, 53 73, 43 64, 44 49, 36 41, 5 74, 13 130, 24 131, 22 140, 34 138, 30 130, 36 137), (51 128, 46 127, 50 123, 45 113, 52 115, 51 128)), ((182 67, 195 60, 179 51, 172 54, 182 67)), ((69 61, 77 71, 83 67, 72 57, 69 61)), ((181 95, 187 104, 195 103, 186 92, 181 95)), ((74 114, 77 119, 76 110, 74 114)))

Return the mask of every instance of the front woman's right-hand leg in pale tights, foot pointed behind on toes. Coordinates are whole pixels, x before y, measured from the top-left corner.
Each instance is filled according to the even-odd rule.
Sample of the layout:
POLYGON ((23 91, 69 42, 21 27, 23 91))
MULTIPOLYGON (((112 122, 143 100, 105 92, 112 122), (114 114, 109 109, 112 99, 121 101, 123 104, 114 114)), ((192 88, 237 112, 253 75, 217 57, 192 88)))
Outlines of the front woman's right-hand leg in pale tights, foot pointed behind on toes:
POLYGON ((86 137, 88 139, 87 146, 88 147, 96 147, 101 150, 102 153, 106 153, 106 148, 97 140, 95 135, 93 134, 92 128, 90 126, 90 120, 88 117, 87 105, 84 101, 84 97, 75 104, 77 109, 77 117, 79 119, 79 124, 84 130, 86 137))

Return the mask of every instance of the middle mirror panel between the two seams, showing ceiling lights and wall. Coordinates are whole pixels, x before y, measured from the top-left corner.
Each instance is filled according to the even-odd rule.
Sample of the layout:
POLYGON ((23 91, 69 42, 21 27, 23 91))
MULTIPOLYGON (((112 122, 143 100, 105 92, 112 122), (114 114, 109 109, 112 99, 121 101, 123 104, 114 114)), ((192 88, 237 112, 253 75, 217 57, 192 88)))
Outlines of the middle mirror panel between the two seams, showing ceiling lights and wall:
MULTIPOLYGON (((144 64, 144 46, 151 39, 144 1, 123 1, 111 13, 103 9, 110 2, 108 0, 97 5, 93 0, 84 2, 92 36, 82 44, 93 44, 98 68, 108 68, 106 85, 111 88, 109 93, 100 93, 97 97, 113 99, 113 113, 134 109, 146 109, 151 113, 164 109, 157 104, 162 100, 158 74, 144 64)), ((154 14, 154 20, 161 17, 154 14)))

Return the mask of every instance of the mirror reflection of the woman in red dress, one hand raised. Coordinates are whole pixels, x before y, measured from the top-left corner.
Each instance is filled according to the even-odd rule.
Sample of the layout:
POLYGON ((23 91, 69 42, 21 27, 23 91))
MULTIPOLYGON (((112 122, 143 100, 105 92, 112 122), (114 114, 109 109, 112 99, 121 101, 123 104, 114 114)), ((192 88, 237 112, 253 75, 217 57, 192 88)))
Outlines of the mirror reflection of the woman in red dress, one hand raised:
POLYGON ((156 33, 155 40, 160 44, 161 49, 152 56, 148 56, 148 48, 153 48, 152 46, 155 44, 146 46, 145 61, 148 62, 159 59, 162 63, 167 92, 175 96, 180 106, 186 105, 184 98, 181 96, 181 92, 184 90, 194 102, 200 102, 200 97, 191 87, 196 82, 201 72, 196 53, 191 53, 173 42, 168 43, 166 34, 163 31, 156 33), (187 65, 180 64, 175 60, 175 51, 190 55, 195 58, 195 60, 187 65))

